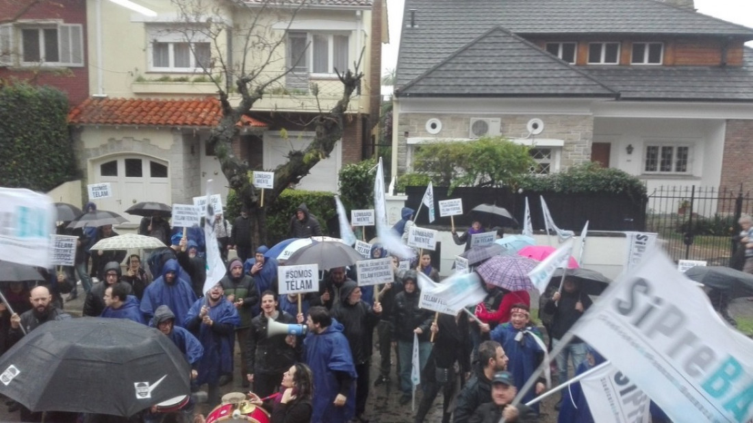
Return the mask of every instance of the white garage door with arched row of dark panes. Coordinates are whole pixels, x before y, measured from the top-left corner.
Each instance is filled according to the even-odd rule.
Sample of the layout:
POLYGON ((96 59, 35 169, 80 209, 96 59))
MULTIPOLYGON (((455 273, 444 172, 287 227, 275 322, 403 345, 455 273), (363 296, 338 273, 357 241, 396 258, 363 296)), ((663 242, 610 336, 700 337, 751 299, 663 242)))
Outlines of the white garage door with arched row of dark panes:
POLYGON ((170 205, 169 166, 164 160, 140 154, 101 157, 92 161, 91 183, 109 182, 112 196, 95 201, 97 208, 116 212, 131 223, 141 217, 126 209, 137 202, 158 201, 170 205))

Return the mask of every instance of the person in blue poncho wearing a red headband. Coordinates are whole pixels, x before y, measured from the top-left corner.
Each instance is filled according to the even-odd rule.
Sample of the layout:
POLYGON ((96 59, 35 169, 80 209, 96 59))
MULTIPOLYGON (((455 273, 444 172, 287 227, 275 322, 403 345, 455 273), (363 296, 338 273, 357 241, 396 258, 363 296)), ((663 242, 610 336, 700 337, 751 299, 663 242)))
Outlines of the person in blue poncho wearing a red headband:
MULTIPOLYGON (((513 374, 515 387, 520 390, 544 360, 545 345, 541 341, 541 332, 532 325, 531 313, 523 303, 513 304, 510 321, 500 324, 489 333, 492 341, 499 342, 508 355, 508 370, 513 374), (535 337, 538 337, 535 339, 535 337)), ((522 403, 532 400, 535 395, 546 389, 544 379, 539 379, 535 387, 523 395, 522 403)), ((531 406, 538 414, 538 403, 531 406)))

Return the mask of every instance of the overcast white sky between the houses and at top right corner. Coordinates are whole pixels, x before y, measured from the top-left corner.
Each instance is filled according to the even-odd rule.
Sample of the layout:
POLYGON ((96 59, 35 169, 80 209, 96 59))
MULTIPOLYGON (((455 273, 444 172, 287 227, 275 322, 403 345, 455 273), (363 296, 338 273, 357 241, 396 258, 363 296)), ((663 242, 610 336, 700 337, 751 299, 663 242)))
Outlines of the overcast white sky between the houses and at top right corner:
MULTIPOLYGON (((753 0, 695 0, 698 11, 722 20, 739 23, 753 28, 753 0)), ((389 12, 389 44, 382 50, 383 75, 395 68, 398 62, 398 46, 403 20, 404 0, 387 0, 389 12)), ((753 41, 748 42, 753 47, 753 41)))

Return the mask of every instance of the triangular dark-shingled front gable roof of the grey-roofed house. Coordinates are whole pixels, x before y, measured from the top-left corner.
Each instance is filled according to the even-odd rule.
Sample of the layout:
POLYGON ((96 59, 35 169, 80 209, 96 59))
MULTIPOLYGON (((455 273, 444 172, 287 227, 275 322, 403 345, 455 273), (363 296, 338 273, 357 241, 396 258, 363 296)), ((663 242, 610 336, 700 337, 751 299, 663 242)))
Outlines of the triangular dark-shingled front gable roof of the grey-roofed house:
POLYGON ((401 88, 401 96, 610 96, 578 68, 494 28, 401 88), (456 84, 462 79, 464 84, 456 84))

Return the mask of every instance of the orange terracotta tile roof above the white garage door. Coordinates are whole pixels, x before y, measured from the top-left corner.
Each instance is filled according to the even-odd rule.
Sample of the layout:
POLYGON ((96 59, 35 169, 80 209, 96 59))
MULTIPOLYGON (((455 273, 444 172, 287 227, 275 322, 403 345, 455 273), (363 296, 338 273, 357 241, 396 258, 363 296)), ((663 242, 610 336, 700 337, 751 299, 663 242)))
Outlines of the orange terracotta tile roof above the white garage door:
MULTIPOLYGON (((68 114, 73 125, 215 126, 222 109, 218 99, 86 99, 68 114)), ((243 116, 240 126, 267 127, 243 116)))

